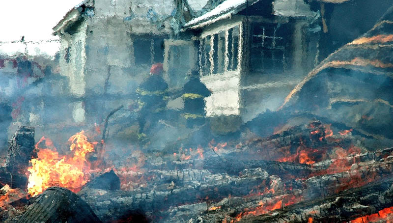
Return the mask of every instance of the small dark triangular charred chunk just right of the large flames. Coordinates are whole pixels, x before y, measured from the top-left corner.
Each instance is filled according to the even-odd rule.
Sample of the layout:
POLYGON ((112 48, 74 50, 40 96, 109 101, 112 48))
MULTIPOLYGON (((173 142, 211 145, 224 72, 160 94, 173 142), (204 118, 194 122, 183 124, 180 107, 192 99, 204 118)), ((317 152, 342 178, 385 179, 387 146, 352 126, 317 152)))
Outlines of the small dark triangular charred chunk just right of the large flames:
POLYGON ((85 188, 102 189, 107 191, 120 190, 120 179, 113 170, 106 172, 84 185, 85 188))

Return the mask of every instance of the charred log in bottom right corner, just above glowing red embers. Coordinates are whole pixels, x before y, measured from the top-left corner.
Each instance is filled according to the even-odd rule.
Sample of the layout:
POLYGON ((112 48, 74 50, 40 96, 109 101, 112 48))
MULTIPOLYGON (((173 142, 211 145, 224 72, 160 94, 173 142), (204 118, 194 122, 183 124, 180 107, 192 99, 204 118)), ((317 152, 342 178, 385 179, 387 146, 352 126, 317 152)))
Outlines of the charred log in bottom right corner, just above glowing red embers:
POLYGON ((326 198, 284 207, 269 215, 244 218, 240 223, 342 223, 393 206, 393 178, 326 198))

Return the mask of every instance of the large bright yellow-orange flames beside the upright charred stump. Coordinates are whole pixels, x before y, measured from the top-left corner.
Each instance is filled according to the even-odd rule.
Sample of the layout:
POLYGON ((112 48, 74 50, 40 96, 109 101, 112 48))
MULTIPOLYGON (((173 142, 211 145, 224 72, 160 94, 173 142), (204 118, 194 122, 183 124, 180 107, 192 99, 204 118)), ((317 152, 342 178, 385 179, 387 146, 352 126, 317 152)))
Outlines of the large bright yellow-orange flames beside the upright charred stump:
POLYGON ((88 180, 89 176, 84 172, 90 170, 90 165, 86 162, 85 156, 94 151, 97 142, 90 143, 84 136, 84 131, 75 134, 70 139, 70 155, 59 155, 50 139, 42 137, 35 145, 39 150, 38 158, 32 159, 31 167, 28 167, 30 175, 28 177, 28 193, 36 196, 46 188, 60 186, 68 188, 73 192, 78 192, 88 180), (38 148, 38 145, 45 141, 47 147, 51 149, 38 148))

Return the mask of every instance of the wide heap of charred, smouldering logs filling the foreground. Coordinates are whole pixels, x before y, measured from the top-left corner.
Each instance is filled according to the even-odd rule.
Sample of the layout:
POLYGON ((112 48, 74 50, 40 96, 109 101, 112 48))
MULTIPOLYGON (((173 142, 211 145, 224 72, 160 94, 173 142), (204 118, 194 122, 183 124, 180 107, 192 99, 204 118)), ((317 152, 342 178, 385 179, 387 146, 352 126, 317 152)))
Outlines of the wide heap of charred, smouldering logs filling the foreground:
MULTIPOLYGON (((89 145, 71 137, 74 157, 57 157, 55 166, 74 171, 74 178, 62 184, 67 175, 50 175, 52 180, 59 177, 60 183, 46 181, 45 186, 44 181, 40 191, 33 190, 31 182, 37 166, 27 164, 31 159, 30 163, 37 164, 37 153, 39 157, 45 151, 40 147, 51 143, 45 139, 34 146, 34 129, 21 127, 9 141, 7 162, 1 167, 1 221, 392 221, 391 140, 366 137, 355 129, 305 115, 293 116, 268 137, 257 137, 249 128, 242 135, 176 152, 139 152, 134 154, 133 165, 124 163, 112 169, 93 169, 104 162, 90 161, 88 154, 96 151, 87 152, 83 177, 62 163, 73 160, 79 146, 89 145)), ((91 145, 98 148, 100 144, 91 145)))

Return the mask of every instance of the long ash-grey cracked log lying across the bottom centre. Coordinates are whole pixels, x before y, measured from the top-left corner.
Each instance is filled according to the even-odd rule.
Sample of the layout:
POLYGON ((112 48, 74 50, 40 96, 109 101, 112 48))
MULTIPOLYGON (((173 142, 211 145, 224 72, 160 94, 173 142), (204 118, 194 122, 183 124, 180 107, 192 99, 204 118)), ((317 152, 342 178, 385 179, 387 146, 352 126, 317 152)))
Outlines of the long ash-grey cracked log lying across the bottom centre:
POLYGON ((83 189, 78 194, 90 204, 99 218, 109 222, 130 211, 140 210, 145 213, 185 203, 197 203, 203 199, 220 200, 229 195, 243 196, 257 187, 270 189, 270 177, 260 168, 244 170, 241 176, 212 174, 181 187, 163 184, 146 192, 83 189))

